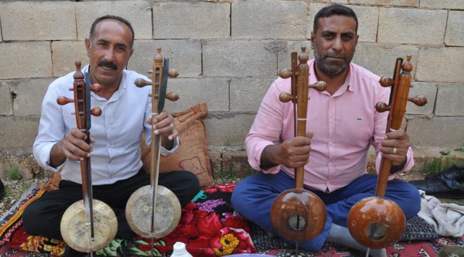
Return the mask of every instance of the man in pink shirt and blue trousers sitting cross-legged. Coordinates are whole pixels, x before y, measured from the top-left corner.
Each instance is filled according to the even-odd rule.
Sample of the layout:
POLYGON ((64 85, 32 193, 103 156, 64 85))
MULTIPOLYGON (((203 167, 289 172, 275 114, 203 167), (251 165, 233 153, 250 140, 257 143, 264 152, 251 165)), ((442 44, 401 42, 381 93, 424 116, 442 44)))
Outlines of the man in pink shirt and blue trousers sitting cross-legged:
MULTIPOLYGON (((377 168, 381 156, 393 163, 385 198, 398 203, 406 218, 420 210, 417 188, 394 178, 414 165, 408 135, 402 130, 385 134, 388 113, 374 109, 379 101, 388 103, 390 89, 380 86, 379 76, 351 63, 357 31, 358 19, 346 6, 334 4, 316 14, 311 34, 315 59, 308 61, 308 80, 326 81, 328 88, 309 90, 306 137, 293 134, 293 104, 278 99, 281 92, 291 92, 291 80, 276 79, 246 136, 248 162, 261 173, 238 183, 232 195, 238 213, 276 233, 271 204, 279 193, 294 187, 294 168, 304 165, 305 188, 323 200, 328 215, 319 236, 299 243, 310 251, 320 250, 326 241, 366 250, 350 236, 346 224, 351 206, 375 193, 377 175, 366 168, 370 145, 378 153, 377 168)), ((370 249, 370 254, 386 253, 370 249)))

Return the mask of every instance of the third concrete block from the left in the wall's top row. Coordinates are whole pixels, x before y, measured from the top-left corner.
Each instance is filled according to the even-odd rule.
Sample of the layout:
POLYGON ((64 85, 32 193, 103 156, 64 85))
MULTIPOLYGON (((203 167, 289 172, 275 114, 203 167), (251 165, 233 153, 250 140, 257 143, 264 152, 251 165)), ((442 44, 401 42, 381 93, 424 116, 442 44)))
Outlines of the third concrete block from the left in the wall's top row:
POLYGON ((230 4, 168 2, 153 5, 155 39, 228 38, 230 4))

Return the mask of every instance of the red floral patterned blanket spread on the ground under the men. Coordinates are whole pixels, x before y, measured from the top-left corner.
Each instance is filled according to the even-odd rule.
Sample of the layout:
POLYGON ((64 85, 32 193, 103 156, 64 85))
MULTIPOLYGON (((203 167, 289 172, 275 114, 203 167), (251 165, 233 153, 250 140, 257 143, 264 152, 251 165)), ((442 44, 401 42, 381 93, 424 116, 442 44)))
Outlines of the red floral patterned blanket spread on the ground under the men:
MULTIPOLYGON (((233 183, 213 186, 198 193, 182 209, 176 230, 154 242, 155 256, 170 256, 173 243, 186 243, 193 256, 227 256, 236 253, 266 253, 273 256, 365 256, 350 248, 326 243, 321 251, 294 251, 278 238, 233 211, 230 205, 233 183)), ((23 231, 21 214, 24 208, 44 191, 39 186, 31 190, 4 213, 0 220, 0 257, 3 256, 66 256, 70 252, 64 241, 41 236, 30 236, 23 231)), ((408 220, 400 242, 387 248, 388 256, 436 256, 445 245, 464 246, 464 238, 439 237, 421 218, 408 220)), ((150 256, 150 240, 136 238, 128 241, 114 238, 98 256, 150 256)))

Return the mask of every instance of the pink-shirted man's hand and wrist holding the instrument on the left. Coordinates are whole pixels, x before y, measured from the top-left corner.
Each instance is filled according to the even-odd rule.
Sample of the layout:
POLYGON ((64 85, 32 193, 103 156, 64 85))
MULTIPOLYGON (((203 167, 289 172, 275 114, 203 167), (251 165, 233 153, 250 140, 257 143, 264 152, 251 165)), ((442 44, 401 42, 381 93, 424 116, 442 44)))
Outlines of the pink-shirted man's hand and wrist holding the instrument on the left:
POLYGON ((313 132, 297 136, 276 145, 266 146, 261 153, 261 168, 282 164, 288 168, 304 166, 309 161, 313 132))

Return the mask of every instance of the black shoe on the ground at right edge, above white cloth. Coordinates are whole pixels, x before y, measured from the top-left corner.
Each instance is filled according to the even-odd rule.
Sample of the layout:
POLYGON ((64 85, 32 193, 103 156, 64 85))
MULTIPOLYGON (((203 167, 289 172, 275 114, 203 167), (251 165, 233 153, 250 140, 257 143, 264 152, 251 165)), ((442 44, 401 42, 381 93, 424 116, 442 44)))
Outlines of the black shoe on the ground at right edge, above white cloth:
POLYGON ((425 178, 420 181, 409 181, 416 188, 425 191, 429 196, 443 198, 464 198, 464 186, 452 178, 447 178, 443 174, 425 178))

